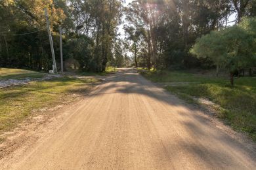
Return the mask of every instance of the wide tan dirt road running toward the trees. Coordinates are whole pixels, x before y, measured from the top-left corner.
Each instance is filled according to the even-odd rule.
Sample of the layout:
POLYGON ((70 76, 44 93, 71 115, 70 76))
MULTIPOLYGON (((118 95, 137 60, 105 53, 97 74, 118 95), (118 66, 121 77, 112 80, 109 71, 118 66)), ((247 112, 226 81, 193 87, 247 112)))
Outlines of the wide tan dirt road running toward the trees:
POLYGON ((131 69, 65 114, 2 169, 256 169, 255 150, 131 69))

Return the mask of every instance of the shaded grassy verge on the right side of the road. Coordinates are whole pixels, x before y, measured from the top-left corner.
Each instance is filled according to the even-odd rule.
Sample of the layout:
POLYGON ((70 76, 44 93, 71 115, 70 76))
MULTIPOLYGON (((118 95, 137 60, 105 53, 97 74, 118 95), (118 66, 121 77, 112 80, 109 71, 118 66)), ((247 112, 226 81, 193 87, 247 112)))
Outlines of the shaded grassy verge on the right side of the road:
POLYGON ((153 82, 171 82, 166 87, 182 99, 192 102, 203 97, 221 107, 217 116, 234 129, 248 133, 256 141, 256 78, 242 77, 234 87, 225 78, 186 73, 184 71, 142 71, 153 82), (181 83, 183 82, 183 83, 181 83))

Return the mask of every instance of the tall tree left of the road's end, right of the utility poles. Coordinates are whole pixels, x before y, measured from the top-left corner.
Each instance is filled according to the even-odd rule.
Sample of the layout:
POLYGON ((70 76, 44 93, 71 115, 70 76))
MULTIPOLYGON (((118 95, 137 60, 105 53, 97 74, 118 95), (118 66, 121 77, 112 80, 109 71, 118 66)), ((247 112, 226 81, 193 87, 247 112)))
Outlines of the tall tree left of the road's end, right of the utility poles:
POLYGON ((121 22, 123 1, 70 0, 75 33, 93 39, 93 71, 104 71, 112 55, 117 25, 121 22))

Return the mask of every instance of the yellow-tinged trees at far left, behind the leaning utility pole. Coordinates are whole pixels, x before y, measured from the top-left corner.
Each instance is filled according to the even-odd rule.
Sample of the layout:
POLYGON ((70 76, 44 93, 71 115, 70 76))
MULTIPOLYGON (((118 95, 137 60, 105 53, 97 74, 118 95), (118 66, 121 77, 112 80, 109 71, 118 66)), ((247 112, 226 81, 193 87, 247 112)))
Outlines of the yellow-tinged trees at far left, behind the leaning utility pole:
POLYGON ((6 44, 6 50, 0 50, 1 65, 40 70, 47 70, 51 66, 51 51, 45 31, 43 9, 47 8, 51 19, 51 29, 56 32, 60 20, 66 18, 63 10, 56 4, 53 0, 0 2, 0 46, 3 42, 6 44))

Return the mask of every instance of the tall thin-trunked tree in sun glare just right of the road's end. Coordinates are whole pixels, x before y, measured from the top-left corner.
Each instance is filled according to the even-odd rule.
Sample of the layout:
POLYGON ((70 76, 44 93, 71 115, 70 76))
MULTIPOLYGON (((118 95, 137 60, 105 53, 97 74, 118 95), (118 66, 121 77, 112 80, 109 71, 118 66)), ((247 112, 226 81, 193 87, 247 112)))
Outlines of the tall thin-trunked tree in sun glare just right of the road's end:
POLYGON ((147 67, 155 68, 159 55, 158 26, 164 12, 165 1, 133 1, 127 7, 127 21, 137 29, 144 32, 143 39, 147 43, 147 67))

